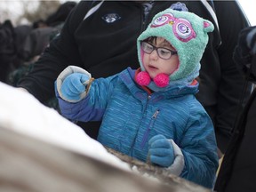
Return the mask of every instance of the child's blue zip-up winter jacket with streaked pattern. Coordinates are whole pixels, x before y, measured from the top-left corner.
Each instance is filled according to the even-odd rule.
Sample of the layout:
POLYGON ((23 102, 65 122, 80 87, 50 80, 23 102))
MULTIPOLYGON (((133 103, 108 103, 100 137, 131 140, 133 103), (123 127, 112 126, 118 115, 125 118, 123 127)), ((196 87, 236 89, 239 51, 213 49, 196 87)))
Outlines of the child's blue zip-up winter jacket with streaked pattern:
MULTIPOLYGON (((174 141, 172 147, 176 148, 175 164, 167 169, 212 188, 218 168, 217 148, 211 119, 194 95, 198 84, 168 86, 164 92, 149 94, 135 83, 135 71, 128 68, 115 76, 95 79, 84 100, 71 103, 62 100, 59 94, 59 82, 65 82, 60 77, 74 70, 67 71, 68 74, 60 74, 56 86, 63 116, 72 121, 102 120, 97 140, 144 162, 148 157, 148 140, 164 135, 174 141)), ((167 164, 170 162, 164 165, 167 164)))

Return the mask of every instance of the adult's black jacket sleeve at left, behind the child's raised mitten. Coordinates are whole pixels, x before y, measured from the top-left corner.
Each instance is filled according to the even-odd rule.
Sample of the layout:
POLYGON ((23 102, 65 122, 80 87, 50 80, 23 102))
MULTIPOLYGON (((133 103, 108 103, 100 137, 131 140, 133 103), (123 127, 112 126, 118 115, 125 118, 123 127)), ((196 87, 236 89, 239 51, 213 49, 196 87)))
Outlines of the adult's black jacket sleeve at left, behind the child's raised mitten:
POLYGON ((20 80, 18 87, 32 93, 36 99, 44 102, 54 97, 54 81, 68 65, 83 65, 77 50, 74 34, 92 3, 81 1, 68 15, 60 35, 52 39, 33 70, 20 80))

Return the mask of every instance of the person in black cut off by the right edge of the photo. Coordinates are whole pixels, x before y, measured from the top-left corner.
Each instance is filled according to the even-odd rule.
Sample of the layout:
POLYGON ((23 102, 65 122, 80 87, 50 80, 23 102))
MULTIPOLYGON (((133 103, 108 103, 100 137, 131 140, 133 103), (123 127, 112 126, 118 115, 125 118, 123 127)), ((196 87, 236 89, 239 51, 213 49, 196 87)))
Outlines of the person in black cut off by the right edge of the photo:
MULTIPOLYGON (((244 76, 256 82, 256 26, 244 28, 234 52, 234 60, 244 76)), ((220 166, 215 185, 218 192, 256 191, 255 119, 256 90, 244 107, 220 166)))

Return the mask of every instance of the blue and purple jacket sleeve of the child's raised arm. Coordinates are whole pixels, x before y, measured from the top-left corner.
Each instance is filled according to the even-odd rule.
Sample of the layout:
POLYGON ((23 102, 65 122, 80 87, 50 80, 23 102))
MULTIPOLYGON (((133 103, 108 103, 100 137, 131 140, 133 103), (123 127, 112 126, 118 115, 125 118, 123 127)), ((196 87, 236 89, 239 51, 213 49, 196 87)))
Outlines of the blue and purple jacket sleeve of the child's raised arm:
POLYGON ((83 100, 78 102, 68 102, 62 100, 55 82, 55 94, 59 100, 60 112, 69 120, 76 122, 100 121, 108 106, 108 99, 113 92, 117 76, 95 79, 89 92, 83 100))

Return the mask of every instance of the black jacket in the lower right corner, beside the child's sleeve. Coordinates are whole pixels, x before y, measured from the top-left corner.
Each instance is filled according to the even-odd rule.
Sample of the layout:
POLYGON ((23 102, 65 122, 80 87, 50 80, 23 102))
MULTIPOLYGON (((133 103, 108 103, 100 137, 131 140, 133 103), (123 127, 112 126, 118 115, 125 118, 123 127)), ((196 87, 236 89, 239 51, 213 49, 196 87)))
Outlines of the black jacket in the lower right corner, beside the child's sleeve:
POLYGON ((256 191, 256 90, 239 118, 215 185, 217 192, 256 191))

